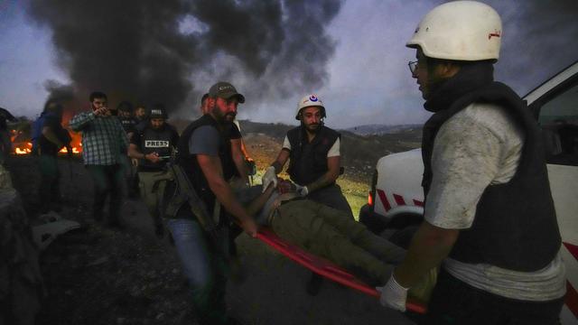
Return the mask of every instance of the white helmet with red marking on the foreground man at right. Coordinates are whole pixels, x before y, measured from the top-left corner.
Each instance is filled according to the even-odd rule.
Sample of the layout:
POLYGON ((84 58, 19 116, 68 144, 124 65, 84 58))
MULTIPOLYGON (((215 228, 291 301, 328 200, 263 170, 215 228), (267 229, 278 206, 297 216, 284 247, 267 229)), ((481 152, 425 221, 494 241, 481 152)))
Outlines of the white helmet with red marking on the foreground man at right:
POLYGON ((426 14, 406 46, 419 46, 434 59, 498 60, 501 36, 502 22, 492 7, 453 1, 426 14))

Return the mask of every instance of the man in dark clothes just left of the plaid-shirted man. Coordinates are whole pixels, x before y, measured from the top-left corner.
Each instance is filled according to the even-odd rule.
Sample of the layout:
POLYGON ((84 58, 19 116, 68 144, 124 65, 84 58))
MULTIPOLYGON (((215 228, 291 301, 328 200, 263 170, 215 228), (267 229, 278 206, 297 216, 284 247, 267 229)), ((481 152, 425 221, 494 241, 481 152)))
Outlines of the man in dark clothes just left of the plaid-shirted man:
POLYGON ((35 153, 39 155, 39 168, 41 174, 40 189, 40 212, 47 213, 50 210, 61 210, 61 172, 58 167, 58 152, 66 147, 69 155, 72 154, 70 147, 70 134, 61 125, 62 107, 49 99, 42 111, 42 131, 37 139, 38 148, 35 153))

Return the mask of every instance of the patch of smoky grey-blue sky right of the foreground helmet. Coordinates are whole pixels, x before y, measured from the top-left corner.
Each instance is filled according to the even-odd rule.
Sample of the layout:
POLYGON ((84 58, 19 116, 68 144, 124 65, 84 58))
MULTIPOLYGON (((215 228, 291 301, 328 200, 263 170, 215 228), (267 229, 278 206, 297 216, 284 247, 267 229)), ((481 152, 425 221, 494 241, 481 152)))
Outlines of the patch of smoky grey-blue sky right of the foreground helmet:
POLYGON ((512 80, 515 87, 519 83, 520 95, 578 60, 578 43, 572 41, 578 38, 578 1, 491 0, 489 5, 504 25, 498 79, 512 80))

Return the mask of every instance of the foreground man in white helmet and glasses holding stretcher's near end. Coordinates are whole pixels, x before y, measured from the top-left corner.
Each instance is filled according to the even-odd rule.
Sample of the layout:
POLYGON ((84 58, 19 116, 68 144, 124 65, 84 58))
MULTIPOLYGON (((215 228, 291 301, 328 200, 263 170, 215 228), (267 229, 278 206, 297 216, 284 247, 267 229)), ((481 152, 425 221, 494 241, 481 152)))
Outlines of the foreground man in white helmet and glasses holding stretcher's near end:
POLYGON ((433 116, 424 125, 424 222, 381 302, 441 266, 427 324, 557 324, 565 293, 561 238, 536 121, 493 80, 502 25, 489 5, 434 8, 407 47, 433 116))

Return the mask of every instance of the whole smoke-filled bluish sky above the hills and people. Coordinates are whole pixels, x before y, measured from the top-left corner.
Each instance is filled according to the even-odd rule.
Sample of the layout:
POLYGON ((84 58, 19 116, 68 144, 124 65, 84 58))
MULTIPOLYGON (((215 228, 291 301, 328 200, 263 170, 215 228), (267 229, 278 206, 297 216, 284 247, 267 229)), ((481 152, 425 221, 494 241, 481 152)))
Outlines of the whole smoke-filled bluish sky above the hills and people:
MULTIPOLYGON (((497 79, 520 95, 578 60, 578 1, 485 1, 504 23, 497 79)), ((405 47, 442 1, 9 0, 0 4, 0 106, 38 114, 48 89, 161 101, 191 118, 219 79, 246 95, 240 118, 294 123, 316 93, 328 125, 428 116, 405 47)), ((79 107, 86 107, 81 101, 79 107)))

